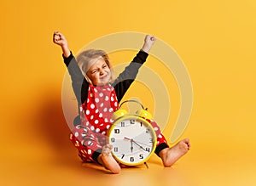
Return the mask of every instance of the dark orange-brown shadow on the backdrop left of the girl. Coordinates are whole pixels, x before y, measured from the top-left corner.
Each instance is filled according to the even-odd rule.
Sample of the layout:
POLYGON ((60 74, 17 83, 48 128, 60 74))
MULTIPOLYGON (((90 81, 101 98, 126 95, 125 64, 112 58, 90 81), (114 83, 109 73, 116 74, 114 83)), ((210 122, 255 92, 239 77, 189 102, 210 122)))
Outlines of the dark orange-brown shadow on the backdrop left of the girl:
POLYGON ((74 159, 77 152, 69 140, 70 128, 62 112, 61 93, 60 95, 44 93, 44 95, 44 101, 38 102, 38 110, 34 116, 35 123, 37 123, 34 126, 35 132, 52 149, 55 156, 53 158, 58 161, 74 159))

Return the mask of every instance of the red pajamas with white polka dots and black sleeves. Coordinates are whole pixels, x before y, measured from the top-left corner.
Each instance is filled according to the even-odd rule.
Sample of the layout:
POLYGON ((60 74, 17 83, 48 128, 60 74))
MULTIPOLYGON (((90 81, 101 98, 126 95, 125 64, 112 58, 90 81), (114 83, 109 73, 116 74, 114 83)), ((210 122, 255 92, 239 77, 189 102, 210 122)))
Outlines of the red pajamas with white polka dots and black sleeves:
MULTIPOLYGON (((148 54, 140 51, 119 77, 105 86, 93 86, 85 81, 73 54, 64 58, 72 78, 73 90, 79 103, 80 121, 70 134, 70 139, 83 161, 96 161, 102 153, 102 147, 107 143, 106 134, 112 124, 111 116, 119 108, 121 100, 137 76, 138 69, 146 61, 148 54)), ((148 120, 149 121, 149 120, 148 120)), ((155 153, 168 147, 166 138, 160 132, 160 127, 149 121, 157 135, 155 153)))

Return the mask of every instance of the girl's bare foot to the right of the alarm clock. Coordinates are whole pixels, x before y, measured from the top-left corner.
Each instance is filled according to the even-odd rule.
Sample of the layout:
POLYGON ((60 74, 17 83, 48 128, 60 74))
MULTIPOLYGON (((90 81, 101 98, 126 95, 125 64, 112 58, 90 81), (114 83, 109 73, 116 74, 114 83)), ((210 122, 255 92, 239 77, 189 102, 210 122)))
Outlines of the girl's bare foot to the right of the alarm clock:
POLYGON ((185 138, 179 141, 172 148, 162 149, 159 155, 164 166, 172 166, 179 158, 188 152, 190 146, 189 138, 185 138))

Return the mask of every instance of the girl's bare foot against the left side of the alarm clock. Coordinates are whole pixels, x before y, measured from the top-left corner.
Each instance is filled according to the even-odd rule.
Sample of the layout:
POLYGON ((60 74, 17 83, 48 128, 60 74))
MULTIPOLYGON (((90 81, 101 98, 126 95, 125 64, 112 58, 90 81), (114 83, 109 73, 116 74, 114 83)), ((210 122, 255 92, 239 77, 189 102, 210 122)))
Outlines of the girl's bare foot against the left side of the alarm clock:
POLYGON ((113 156, 111 155, 111 144, 107 144, 102 148, 102 155, 99 155, 98 161, 102 163, 105 168, 109 171, 113 172, 114 174, 118 174, 121 170, 117 161, 114 160, 113 156))

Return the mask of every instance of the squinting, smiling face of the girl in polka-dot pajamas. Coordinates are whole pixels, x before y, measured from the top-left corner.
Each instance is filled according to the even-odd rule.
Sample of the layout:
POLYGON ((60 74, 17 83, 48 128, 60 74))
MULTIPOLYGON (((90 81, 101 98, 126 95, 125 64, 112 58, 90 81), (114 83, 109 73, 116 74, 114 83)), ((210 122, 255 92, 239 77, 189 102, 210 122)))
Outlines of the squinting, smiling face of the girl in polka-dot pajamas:
POLYGON ((111 70, 103 58, 96 60, 90 65, 86 75, 90 78, 93 85, 106 85, 111 80, 111 70))

